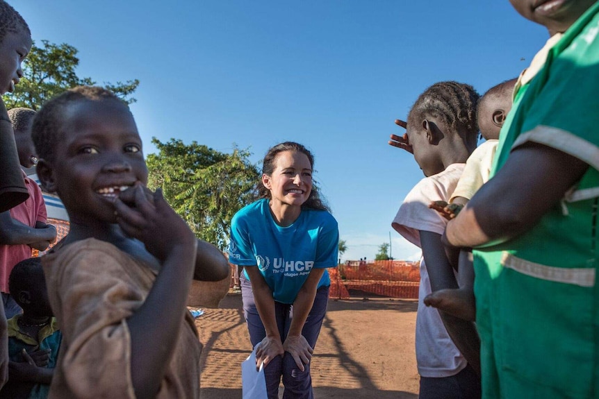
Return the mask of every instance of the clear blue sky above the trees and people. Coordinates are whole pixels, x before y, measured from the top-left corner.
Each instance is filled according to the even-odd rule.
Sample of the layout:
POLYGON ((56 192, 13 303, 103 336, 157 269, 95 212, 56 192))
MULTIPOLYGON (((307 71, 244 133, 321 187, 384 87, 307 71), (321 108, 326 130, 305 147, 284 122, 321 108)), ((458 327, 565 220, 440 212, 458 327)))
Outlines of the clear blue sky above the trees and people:
POLYGON ((388 146, 426 87, 470 83, 481 94, 518 76, 548 33, 509 1, 13 0, 33 40, 79 50, 77 73, 140 80, 131 106, 151 137, 236 144, 259 162, 293 140, 315 155, 315 178, 347 241, 343 260, 420 251, 392 228, 422 178, 388 146), (524 58, 525 60, 522 60, 524 58))

